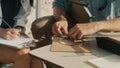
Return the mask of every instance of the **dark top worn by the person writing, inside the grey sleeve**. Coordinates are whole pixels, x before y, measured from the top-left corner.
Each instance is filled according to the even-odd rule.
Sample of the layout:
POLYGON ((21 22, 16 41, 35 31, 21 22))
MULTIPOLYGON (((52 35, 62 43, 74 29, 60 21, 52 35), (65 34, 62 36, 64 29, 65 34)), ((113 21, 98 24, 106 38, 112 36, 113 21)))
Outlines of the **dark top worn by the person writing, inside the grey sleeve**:
MULTIPOLYGON (((20 0, 1 0, 3 19, 13 27, 15 24, 14 17, 18 14, 21 3, 20 0)), ((2 28, 9 28, 3 21, 2 28)))

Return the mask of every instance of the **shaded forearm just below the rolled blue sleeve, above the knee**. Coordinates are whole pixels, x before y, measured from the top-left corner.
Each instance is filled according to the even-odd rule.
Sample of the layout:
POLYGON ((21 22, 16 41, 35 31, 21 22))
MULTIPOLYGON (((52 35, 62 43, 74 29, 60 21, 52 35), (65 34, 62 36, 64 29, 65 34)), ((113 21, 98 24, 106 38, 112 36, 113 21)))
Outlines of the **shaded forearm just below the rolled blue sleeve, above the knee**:
POLYGON ((53 8, 53 16, 57 21, 59 21, 59 20, 67 20, 65 18, 65 12, 61 8, 59 8, 57 6, 53 8))

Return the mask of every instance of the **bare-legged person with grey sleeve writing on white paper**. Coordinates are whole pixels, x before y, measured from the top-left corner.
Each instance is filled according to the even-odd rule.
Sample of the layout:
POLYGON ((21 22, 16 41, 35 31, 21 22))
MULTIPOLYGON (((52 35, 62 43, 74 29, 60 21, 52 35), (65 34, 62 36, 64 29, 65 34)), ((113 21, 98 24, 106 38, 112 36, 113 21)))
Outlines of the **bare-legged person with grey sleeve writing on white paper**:
MULTIPOLYGON (((0 0, 0 37, 6 40, 20 37, 30 8, 30 0, 0 0)), ((13 63, 13 68, 43 68, 40 60, 28 55, 29 51, 29 48, 15 49, 0 44, 0 63, 13 63)))

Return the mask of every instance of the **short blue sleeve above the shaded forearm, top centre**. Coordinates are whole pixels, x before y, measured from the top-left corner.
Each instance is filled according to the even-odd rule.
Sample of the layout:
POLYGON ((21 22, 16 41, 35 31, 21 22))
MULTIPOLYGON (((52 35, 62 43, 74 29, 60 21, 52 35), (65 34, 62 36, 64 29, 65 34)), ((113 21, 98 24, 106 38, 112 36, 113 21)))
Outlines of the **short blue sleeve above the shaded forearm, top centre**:
POLYGON ((68 0, 54 0, 53 7, 58 6, 64 11, 67 11, 69 7, 69 1, 68 0))

